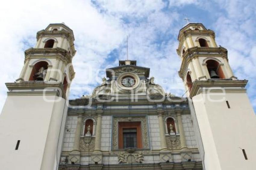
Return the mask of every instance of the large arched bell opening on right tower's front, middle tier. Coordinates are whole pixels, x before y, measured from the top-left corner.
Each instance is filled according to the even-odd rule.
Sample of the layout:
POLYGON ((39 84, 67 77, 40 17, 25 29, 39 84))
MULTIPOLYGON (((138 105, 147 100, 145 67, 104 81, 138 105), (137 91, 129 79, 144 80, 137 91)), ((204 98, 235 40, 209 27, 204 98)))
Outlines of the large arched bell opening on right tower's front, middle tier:
POLYGON ((221 79, 225 78, 219 62, 217 62, 213 59, 209 59, 205 63, 207 65, 207 69, 208 69, 208 72, 209 72, 209 75, 211 78, 213 78, 213 79, 214 78, 221 78, 221 79))

